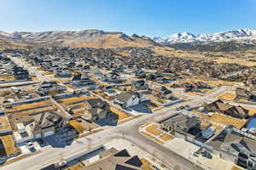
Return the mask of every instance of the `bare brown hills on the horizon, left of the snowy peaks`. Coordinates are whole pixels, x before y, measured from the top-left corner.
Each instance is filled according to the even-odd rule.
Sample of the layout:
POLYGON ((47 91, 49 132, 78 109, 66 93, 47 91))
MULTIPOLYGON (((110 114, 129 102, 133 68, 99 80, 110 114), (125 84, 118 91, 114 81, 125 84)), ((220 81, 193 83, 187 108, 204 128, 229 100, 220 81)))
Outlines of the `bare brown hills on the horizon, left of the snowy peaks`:
POLYGON ((122 32, 98 30, 43 31, 12 33, 0 31, 0 48, 71 47, 71 48, 119 48, 160 46, 149 37, 131 37, 122 32))

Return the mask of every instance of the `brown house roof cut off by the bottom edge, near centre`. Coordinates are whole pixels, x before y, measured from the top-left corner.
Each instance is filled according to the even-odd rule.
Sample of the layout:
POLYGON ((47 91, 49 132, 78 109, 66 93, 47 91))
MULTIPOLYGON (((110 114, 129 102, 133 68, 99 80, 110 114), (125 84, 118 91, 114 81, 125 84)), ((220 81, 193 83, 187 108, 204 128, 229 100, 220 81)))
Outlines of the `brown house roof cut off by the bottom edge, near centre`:
POLYGON ((111 148, 100 155, 100 159, 81 167, 80 170, 142 170, 143 162, 131 156, 127 150, 111 148))

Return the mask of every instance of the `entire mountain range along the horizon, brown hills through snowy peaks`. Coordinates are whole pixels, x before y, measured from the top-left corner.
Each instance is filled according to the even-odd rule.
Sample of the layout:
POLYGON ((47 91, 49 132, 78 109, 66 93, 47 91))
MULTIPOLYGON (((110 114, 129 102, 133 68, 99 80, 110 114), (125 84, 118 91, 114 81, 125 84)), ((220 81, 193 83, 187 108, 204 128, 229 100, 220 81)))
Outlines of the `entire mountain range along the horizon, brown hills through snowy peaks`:
MULTIPOLYGON (((204 49, 205 44, 221 42, 229 47, 256 46, 256 30, 240 29, 236 31, 223 31, 212 34, 194 35, 189 32, 176 33, 167 38, 128 36, 117 31, 0 31, 0 48, 48 48, 48 47, 71 47, 71 48, 121 48, 121 47, 161 47, 185 49, 204 49), (230 43, 232 42, 232 43, 230 43), (238 45, 237 45, 238 44, 238 45), (242 46, 240 45, 242 44, 242 46), (193 46, 193 48, 191 48, 193 46), (196 46, 196 47, 195 47, 196 46)), ((230 48, 233 50, 233 48, 230 48)))

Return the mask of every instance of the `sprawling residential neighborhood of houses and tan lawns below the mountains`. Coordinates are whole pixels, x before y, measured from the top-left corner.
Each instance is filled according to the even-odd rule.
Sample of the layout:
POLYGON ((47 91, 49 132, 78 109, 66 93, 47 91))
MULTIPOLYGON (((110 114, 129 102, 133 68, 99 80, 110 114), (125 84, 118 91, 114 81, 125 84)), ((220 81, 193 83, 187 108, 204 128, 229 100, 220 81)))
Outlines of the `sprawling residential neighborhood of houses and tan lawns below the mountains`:
MULTIPOLYGON (((188 61, 171 58, 183 66, 170 63, 168 67, 172 65, 175 69, 166 71, 163 69, 165 62, 143 59, 151 53, 146 48, 3 51, 1 77, 13 75, 0 84, 3 168, 11 166, 10 162, 15 160, 32 159, 49 150, 64 151, 88 142, 92 143, 90 152, 79 150, 77 155, 71 156, 73 158, 66 156, 66 161, 52 162, 49 167, 96 170, 183 167, 182 163, 176 165, 174 160, 164 161, 163 155, 148 152, 144 147, 149 141, 165 148, 165 154, 182 156, 199 169, 218 169, 223 162, 228 162, 225 169, 230 170, 236 166, 255 168, 253 77, 245 76, 247 82, 238 83, 223 78, 224 75, 218 75, 218 79, 206 74, 205 79, 201 76, 199 81, 195 78, 191 81, 191 77, 202 74, 198 70, 200 65, 212 64, 195 62, 188 74, 185 66, 188 61), (119 50, 130 51, 131 60, 122 60, 117 53, 119 50), (128 126, 143 120, 149 121, 133 129, 128 126), (119 131, 119 128, 124 130, 119 131), (114 139, 111 135, 119 133, 124 142, 132 142, 133 135, 142 135, 145 144, 136 143, 134 147, 145 154, 137 156, 134 149, 111 142, 114 139), (100 144, 101 140, 108 142, 100 144), (177 150, 179 144, 187 148, 177 152, 173 144, 177 150)), ((216 69, 222 66, 214 65, 216 69)), ((242 72, 247 69, 251 70, 239 68, 239 65, 234 67, 242 72)))

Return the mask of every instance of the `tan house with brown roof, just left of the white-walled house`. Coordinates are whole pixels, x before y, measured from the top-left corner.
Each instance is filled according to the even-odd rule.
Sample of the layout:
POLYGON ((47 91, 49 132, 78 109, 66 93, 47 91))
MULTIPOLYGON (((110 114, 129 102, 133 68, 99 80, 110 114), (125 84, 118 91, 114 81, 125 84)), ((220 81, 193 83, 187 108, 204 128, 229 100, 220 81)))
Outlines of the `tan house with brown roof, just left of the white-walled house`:
POLYGON ((85 115, 89 117, 90 121, 97 121, 103 119, 110 114, 109 105, 102 99, 88 99, 84 102, 85 115))

